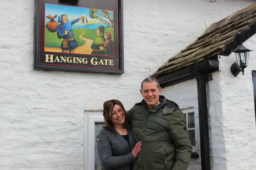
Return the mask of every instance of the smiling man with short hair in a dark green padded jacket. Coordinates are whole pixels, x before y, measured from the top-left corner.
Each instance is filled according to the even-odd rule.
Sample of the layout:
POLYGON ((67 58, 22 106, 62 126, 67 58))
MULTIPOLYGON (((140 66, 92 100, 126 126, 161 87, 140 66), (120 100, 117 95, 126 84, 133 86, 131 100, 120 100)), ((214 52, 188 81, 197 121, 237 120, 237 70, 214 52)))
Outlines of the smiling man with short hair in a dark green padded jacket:
POLYGON ((142 142, 133 170, 186 170, 192 147, 179 106, 160 96, 157 79, 141 83, 143 100, 127 112, 135 140, 142 142))

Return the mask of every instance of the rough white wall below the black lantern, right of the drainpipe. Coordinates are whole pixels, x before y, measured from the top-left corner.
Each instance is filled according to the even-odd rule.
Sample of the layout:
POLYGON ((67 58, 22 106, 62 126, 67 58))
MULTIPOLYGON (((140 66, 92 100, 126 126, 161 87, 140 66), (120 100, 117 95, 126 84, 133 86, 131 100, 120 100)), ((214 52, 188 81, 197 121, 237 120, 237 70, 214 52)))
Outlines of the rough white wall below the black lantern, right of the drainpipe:
MULTIPOLYGON (((221 56, 219 59, 220 71, 215 72, 213 76, 213 80, 216 78, 218 83, 215 84, 216 81, 211 81, 212 84, 209 84, 209 91, 212 94, 210 100, 220 103, 216 99, 221 99, 219 106, 222 108, 222 115, 219 115, 219 112, 214 114, 211 111, 210 115, 218 115, 215 118, 222 122, 223 138, 219 143, 225 143, 225 151, 219 150, 219 153, 221 155, 225 152, 227 170, 256 169, 256 123, 252 82, 252 71, 256 70, 255 44, 256 35, 243 44, 248 49, 253 50, 250 52, 248 67, 245 68, 244 75, 240 73, 234 77, 231 74, 230 66, 236 61, 235 54, 232 53, 230 56, 221 56)), ((211 104, 211 107, 215 108, 216 111, 220 110, 218 105, 214 105, 214 103, 211 104)), ((212 129, 213 131, 214 129, 212 129)), ((217 140, 215 133, 212 133, 211 137, 217 140)))

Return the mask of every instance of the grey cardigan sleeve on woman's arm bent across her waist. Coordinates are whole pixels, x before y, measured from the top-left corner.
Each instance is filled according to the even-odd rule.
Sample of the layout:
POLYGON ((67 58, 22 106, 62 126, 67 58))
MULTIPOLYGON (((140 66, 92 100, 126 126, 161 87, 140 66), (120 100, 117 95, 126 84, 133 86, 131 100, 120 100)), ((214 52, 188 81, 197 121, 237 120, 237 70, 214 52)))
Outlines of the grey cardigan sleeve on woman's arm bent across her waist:
POLYGON ((111 141, 108 138, 106 131, 102 133, 101 130, 97 142, 97 149, 100 162, 103 167, 108 169, 115 169, 130 164, 135 160, 131 152, 126 155, 113 156, 111 145, 111 141))

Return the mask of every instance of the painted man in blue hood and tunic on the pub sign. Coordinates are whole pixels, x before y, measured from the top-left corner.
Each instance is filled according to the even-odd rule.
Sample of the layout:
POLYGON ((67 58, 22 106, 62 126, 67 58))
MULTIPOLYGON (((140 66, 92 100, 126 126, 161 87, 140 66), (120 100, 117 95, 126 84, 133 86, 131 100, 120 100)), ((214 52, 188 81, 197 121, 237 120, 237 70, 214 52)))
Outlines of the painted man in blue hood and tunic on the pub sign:
POLYGON ((66 14, 62 14, 58 17, 58 22, 60 24, 57 27, 57 36, 59 39, 63 38, 60 48, 64 53, 74 53, 75 48, 78 46, 74 35, 72 32, 72 25, 78 22, 80 19, 83 19, 83 16, 76 18, 72 21, 68 20, 66 14))

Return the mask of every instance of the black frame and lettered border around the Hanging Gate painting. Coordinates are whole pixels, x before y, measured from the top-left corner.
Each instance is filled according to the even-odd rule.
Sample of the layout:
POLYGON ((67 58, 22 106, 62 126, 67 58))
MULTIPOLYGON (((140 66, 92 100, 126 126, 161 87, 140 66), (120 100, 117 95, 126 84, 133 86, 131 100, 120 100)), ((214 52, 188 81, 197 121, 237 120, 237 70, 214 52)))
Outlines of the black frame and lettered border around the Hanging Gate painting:
MULTIPOLYGON (((70 2, 71 3, 69 3, 68 0, 66 0, 66 1, 64 1, 64 0, 35 0, 35 6, 34 6, 35 7, 35 9, 34 9, 34 69, 36 69, 36 70, 58 70, 58 71, 123 74, 124 73, 123 0, 108 0, 108 1, 105 1, 105 0, 77 0, 77 1, 70 1, 70 2), (75 2, 75 4, 74 4, 74 2, 75 2), (46 13, 45 9, 46 9, 46 5, 48 5, 48 4, 66 5, 68 7, 89 8, 90 16, 83 18, 83 19, 86 19, 86 21, 87 21, 87 18, 89 18, 89 17, 91 18, 91 16, 95 17, 95 14, 91 15, 92 12, 94 12, 94 13, 97 11, 105 12, 105 11, 109 10, 111 13, 111 11, 113 11, 113 16, 112 16, 112 18, 113 18, 112 38, 113 38, 113 47, 114 47, 113 55, 110 55, 110 54, 109 55, 106 55, 106 54, 94 55, 94 54, 89 54, 89 53, 88 54, 69 53, 69 52, 63 52, 63 49, 62 49, 62 52, 45 50, 45 48, 46 48, 45 47, 46 31, 47 31, 46 25, 45 25, 47 21, 45 18, 46 18, 46 15, 48 15, 48 14, 45 14, 46 13), (98 9, 102 9, 102 10, 98 10, 98 9), (40 59, 40 57, 41 57, 41 59, 40 59)), ((65 13, 65 12, 63 12, 63 13, 65 13)), ((108 14, 108 13, 106 13, 106 14, 108 14)), ((52 16, 53 15, 54 14, 52 14, 52 16)), ((66 15, 66 14, 64 14, 64 15, 66 15)), ((104 16, 104 14, 101 14, 101 15, 104 16)), ((67 16, 67 17, 69 17, 69 16, 67 16)), ((99 18, 102 19, 104 17, 99 17, 99 18)), ((98 20, 99 20, 99 18, 98 18, 98 20)), ((58 20, 58 17, 56 19, 58 20)), ((83 19, 81 19, 81 20, 83 20, 83 19)), ((109 19, 107 21, 111 21, 111 20, 109 19)), ((104 20, 104 23, 106 23, 106 20, 104 20)), ((111 23, 109 23, 109 25, 111 25, 111 23)), ((61 28, 63 28, 63 27, 61 27, 61 28)), ((97 28, 96 28, 96 30, 97 30, 97 28)), ((107 32, 105 32, 105 34, 106 33, 107 32)), ((73 33, 72 33, 72 35, 73 35, 73 33)), ((73 37, 74 37, 74 35, 73 35, 73 37)), ((63 38, 63 41, 64 41, 64 38, 63 38)), ((62 43, 63 43, 63 41, 62 41, 62 43)), ((61 44, 61 47, 62 47, 62 44, 61 44)), ((59 50, 61 50, 61 49, 59 49, 59 50)))

